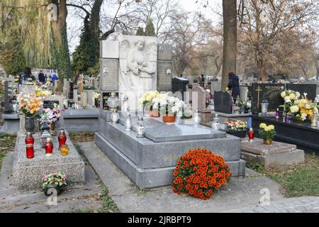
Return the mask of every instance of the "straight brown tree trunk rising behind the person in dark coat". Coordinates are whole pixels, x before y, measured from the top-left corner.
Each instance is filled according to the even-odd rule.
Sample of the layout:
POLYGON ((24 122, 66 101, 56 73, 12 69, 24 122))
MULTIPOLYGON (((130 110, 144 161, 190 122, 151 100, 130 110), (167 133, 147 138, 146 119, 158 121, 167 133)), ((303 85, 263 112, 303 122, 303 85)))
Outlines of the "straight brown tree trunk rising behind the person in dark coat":
POLYGON ((236 73, 237 1, 223 0, 223 73, 221 89, 228 85, 228 72, 236 73))

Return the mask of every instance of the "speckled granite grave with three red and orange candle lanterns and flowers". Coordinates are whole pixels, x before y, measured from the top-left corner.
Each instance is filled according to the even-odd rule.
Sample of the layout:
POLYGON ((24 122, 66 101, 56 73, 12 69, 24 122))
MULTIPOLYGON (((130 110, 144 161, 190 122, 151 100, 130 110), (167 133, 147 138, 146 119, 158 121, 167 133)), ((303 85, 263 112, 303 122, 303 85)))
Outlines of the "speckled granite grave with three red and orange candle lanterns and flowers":
POLYGON ((84 161, 65 129, 65 97, 23 84, 17 101, 20 114, 11 177, 16 192, 43 189, 50 196, 52 190, 59 194, 67 186, 84 184, 84 161))

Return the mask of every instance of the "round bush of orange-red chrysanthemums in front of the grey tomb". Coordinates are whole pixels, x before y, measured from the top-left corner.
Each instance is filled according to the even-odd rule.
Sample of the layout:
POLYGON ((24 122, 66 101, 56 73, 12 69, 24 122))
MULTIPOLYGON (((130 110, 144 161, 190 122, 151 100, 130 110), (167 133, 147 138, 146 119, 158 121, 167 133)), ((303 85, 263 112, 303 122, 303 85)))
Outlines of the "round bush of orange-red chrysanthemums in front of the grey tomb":
POLYGON ((231 175, 223 157, 198 148, 179 157, 172 187, 175 193, 186 193, 205 200, 227 184, 231 175))

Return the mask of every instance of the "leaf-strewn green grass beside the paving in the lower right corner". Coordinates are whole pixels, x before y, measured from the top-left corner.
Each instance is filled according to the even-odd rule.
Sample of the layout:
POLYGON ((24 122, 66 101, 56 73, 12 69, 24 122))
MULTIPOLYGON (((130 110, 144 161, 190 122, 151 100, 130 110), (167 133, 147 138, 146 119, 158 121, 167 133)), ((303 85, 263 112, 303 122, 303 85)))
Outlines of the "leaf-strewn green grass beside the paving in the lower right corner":
POLYGON ((305 154, 305 163, 300 165, 267 167, 249 163, 252 170, 274 179, 284 189, 284 196, 319 196, 319 157, 305 154))

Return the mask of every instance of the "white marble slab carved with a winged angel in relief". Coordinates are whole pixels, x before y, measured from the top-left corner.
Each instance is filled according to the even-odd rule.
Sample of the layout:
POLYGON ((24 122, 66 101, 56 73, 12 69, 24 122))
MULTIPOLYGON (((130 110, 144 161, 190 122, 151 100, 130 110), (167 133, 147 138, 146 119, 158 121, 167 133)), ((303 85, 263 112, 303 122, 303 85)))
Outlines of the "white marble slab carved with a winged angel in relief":
POLYGON ((121 35, 119 51, 120 99, 128 96, 130 109, 137 110, 140 96, 157 89, 157 38, 121 35))

